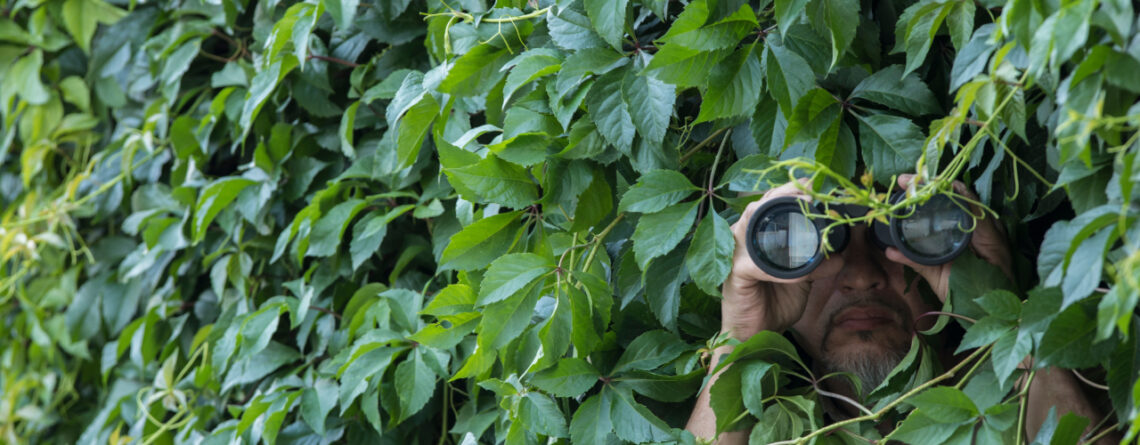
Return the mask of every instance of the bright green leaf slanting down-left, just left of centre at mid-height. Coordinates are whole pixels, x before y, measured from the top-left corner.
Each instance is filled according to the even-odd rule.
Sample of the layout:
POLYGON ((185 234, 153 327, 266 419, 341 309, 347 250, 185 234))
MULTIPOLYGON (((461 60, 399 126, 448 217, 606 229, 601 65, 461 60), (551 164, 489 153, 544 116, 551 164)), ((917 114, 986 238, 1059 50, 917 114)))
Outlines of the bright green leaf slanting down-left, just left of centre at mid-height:
POLYGON ((481 269, 506 253, 521 224, 522 211, 480 219, 451 236, 443 249, 440 267, 457 270, 481 269))

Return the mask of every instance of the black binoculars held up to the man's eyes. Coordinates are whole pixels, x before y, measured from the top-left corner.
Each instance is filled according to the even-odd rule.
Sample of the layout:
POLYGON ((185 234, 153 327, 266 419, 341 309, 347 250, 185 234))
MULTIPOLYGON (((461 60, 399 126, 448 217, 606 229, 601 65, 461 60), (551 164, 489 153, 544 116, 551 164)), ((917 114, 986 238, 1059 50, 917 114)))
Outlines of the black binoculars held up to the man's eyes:
MULTIPOLYGON (((902 192, 890 203, 904 199, 902 192)), ((760 205, 748 221, 747 248, 752 261, 776 278, 797 278, 809 274, 823 262, 823 229, 834 220, 822 205, 807 205, 792 196, 780 196, 760 205)), ((848 216, 866 213, 862 205, 832 205, 848 216)), ((946 195, 936 195, 926 203, 907 209, 905 217, 889 217, 887 224, 869 222, 868 237, 879 249, 898 249, 906 258, 926 266, 950 262, 970 244, 974 216, 946 195)), ((828 233, 831 252, 847 246, 850 228, 833 227, 828 233)))

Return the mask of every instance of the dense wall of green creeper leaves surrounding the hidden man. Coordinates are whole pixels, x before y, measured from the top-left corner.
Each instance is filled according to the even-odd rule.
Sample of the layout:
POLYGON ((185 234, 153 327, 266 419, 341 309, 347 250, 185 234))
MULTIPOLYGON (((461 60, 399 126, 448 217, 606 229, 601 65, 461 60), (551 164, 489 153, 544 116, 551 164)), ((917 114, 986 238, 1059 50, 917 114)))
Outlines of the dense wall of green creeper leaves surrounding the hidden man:
POLYGON ((0 0, 0 440, 691 443, 736 192, 790 172, 886 212, 845 178, 914 171, 910 202, 961 179, 1019 253, 1017 283, 955 264, 964 367, 920 335, 823 435, 828 377, 762 334, 719 427, 1028 440, 992 388, 1033 354, 1131 440, 1138 26, 1126 0, 0 0))

